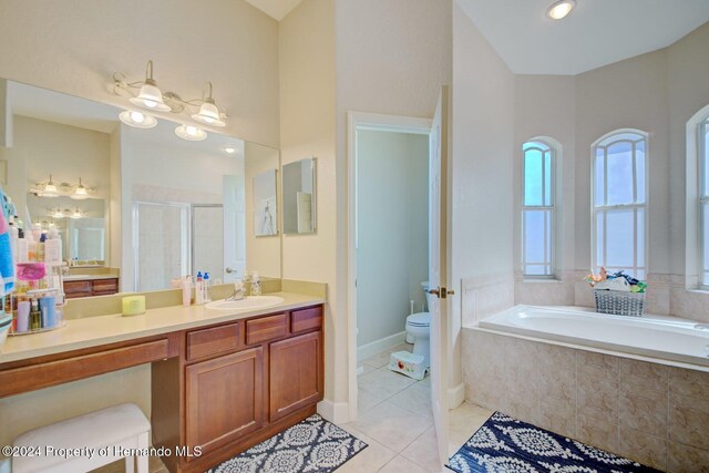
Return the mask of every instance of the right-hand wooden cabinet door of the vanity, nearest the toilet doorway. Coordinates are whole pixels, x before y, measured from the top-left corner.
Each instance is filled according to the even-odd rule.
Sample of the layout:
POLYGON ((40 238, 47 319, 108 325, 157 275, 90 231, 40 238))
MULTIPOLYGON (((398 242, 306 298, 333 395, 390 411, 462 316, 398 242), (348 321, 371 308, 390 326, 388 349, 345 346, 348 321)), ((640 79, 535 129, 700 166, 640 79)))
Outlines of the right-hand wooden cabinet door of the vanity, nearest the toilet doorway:
POLYGON ((322 332, 292 337, 270 345, 270 420, 322 399, 322 332))

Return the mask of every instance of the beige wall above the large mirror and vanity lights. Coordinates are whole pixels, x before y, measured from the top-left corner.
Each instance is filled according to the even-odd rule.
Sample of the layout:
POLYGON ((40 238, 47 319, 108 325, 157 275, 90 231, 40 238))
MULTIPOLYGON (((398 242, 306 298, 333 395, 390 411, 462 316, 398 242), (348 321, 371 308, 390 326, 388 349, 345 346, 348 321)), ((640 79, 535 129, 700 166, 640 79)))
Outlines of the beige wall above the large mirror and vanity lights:
POLYGON ((99 102, 114 72, 154 76, 183 99, 207 81, 227 109, 226 132, 278 145, 278 23, 244 1, 3 0, 0 78, 99 102))

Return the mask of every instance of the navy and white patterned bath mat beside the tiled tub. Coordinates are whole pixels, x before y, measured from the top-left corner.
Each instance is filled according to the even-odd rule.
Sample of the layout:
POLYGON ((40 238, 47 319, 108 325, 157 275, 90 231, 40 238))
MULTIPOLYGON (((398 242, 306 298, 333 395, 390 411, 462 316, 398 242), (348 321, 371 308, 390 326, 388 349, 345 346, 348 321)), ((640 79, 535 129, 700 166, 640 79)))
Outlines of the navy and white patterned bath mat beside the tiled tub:
POLYGON ((658 470, 495 412, 449 459, 459 473, 650 473, 658 470))

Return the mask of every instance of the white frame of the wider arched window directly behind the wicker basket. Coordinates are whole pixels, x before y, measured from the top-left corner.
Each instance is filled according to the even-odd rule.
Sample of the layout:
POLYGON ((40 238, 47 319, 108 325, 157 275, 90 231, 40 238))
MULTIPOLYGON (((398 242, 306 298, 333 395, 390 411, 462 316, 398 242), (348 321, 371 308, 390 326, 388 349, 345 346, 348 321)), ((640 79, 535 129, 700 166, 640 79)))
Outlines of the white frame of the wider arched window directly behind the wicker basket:
MULTIPOLYGON (((650 143, 649 143, 649 134, 647 132, 644 132, 641 130, 635 130, 635 128, 619 128, 619 130, 614 130, 609 133, 606 133, 605 135, 600 136, 598 140, 596 140, 592 146, 590 146, 590 268, 592 269, 598 269, 600 266, 604 266, 606 268, 608 268, 607 265, 607 250, 608 250, 608 246, 607 246, 607 216, 608 216, 608 212, 613 212, 613 210, 634 210, 634 233, 636 233, 636 239, 633 244, 633 264, 634 266, 631 267, 616 267, 616 266, 610 266, 612 269, 618 268, 621 270, 626 270, 626 271, 633 271, 634 274, 637 270, 643 270, 643 277, 640 279, 647 279, 648 277, 648 268, 649 268, 649 260, 648 260, 648 255, 649 255, 649 206, 650 206, 650 192, 649 192, 649 156, 650 156, 650 143), (631 140, 612 140, 614 136, 616 135, 624 135, 624 134, 635 134, 638 136, 638 140, 631 141, 631 140), (635 147, 636 144, 640 141, 645 142, 645 173, 644 173, 644 179, 645 179, 645 202, 644 203, 637 203, 637 174, 635 173, 636 169, 636 153, 635 153, 635 147), (596 205, 596 160, 597 157, 597 150, 599 147, 604 147, 604 148, 608 148, 610 145, 616 144, 616 143, 620 143, 620 142, 629 142, 633 143, 633 195, 634 195, 634 203, 631 204, 614 204, 614 205, 608 205, 607 204, 607 199, 608 199, 608 166, 607 166, 607 158, 608 158, 608 154, 607 152, 604 152, 604 157, 606 160, 606 163, 604 164, 604 187, 603 187, 603 192, 604 192, 604 204, 597 206, 596 205), (637 248, 637 229, 638 227, 638 209, 643 209, 643 214, 644 214, 644 218, 643 218, 643 232, 644 232, 644 241, 643 241, 643 266, 638 266, 638 248, 637 248), (596 254, 597 254, 597 246, 598 246, 598 241, 597 241, 597 235, 598 235, 598 227, 597 227, 597 215, 599 213, 604 214, 604 256, 603 256, 603 260, 597 265, 598 261, 596 261, 596 254)), ((634 275, 635 276, 635 275, 634 275)))

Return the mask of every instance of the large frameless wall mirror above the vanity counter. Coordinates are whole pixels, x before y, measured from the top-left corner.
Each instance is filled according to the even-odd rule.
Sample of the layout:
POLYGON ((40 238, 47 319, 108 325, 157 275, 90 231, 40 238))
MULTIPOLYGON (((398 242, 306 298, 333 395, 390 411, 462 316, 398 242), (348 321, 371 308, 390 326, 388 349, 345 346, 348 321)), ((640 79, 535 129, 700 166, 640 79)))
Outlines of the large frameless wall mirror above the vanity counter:
POLYGON ((3 187, 25 227, 58 229, 73 273, 110 268, 122 291, 197 271, 224 282, 250 270, 280 277, 280 239, 255 228, 253 188, 279 168, 278 150, 213 132, 188 142, 169 121, 134 128, 112 105, 0 85, 3 187))

